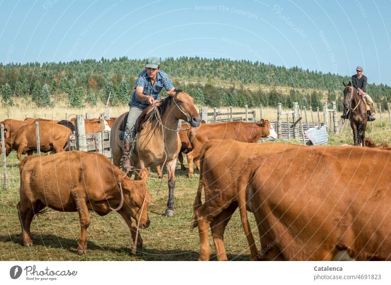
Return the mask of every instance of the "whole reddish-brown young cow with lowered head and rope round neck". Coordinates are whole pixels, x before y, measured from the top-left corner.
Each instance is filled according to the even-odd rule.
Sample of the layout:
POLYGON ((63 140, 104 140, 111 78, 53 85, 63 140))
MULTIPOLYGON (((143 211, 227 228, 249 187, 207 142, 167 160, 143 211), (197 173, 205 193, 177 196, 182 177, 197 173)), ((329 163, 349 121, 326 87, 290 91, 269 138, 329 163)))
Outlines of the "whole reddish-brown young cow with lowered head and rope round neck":
MULTIPOLYGON (((78 254, 87 251, 88 210, 100 216, 116 211, 128 224, 133 242, 136 242, 136 227, 131 218, 140 228, 147 228, 150 224, 148 204, 151 195, 145 182, 148 171, 140 173, 143 180, 134 181, 110 163, 105 155, 72 151, 25 157, 20 173, 20 202, 17 209, 25 246, 33 244, 30 224, 44 207, 79 213, 81 233, 78 254)), ((136 245, 137 248, 142 247, 140 235, 136 245)))

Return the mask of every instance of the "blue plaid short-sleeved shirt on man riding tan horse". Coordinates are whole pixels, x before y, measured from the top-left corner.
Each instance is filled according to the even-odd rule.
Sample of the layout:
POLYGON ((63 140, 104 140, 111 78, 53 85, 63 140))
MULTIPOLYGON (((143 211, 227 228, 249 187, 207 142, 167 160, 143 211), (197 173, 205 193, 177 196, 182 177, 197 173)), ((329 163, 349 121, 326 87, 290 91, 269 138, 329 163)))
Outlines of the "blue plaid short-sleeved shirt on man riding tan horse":
MULTIPOLYGON (((153 86, 151 84, 151 78, 149 78, 149 76, 147 75, 147 71, 144 70, 143 72, 141 72, 140 75, 137 77, 136 86, 134 87, 134 89, 138 86, 144 88, 143 94, 150 95, 154 99, 159 99, 159 93, 161 92, 163 87, 166 89, 166 91, 169 91, 174 88, 174 85, 168 78, 167 73, 161 70, 157 72, 153 86)), ((131 97, 129 105, 134 105, 143 109, 149 106, 147 101, 140 101, 136 99, 135 90, 133 92, 133 96, 131 97)))

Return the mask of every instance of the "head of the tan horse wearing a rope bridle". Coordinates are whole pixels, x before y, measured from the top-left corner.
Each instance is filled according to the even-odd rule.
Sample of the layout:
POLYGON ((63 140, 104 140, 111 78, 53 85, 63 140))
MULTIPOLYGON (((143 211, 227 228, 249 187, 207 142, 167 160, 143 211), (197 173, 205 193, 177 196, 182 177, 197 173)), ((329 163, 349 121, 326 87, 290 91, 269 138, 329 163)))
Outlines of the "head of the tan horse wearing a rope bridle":
POLYGON ((175 104, 173 108, 175 118, 188 122, 192 127, 198 127, 200 125, 201 117, 195 109, 192 96, 182 90, 176 89, 173 101, 175 104))

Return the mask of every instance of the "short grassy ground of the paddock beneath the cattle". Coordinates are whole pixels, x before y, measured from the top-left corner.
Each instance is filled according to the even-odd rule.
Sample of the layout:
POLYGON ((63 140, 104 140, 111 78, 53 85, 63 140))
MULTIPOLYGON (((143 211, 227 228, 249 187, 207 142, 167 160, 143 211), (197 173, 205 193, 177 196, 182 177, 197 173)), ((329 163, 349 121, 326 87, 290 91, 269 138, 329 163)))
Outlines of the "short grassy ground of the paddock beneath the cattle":
MULTIPOLYGON (((390 142, 390 125, 380 126, 378 119, 367 127, 367 137, 376 143, 390 142)), ((279 141, 286 143, 287 141, 279 141)), ((299 143, 290 140, 290 143, 299 143)), ((352 144, 348 125, 344 133, 329 137, 329 144, 352 144)), ((2 173, 2 167, 1 167, 2 173)), ((141 230, 144 248, 131 255, 130 232, 122 218, 110 213, 100 217, 91 212, 91 224, 87 230, 86 255, 76 251, 80 234, 78 214, 47 210, 37 216, 31 225, 34 239, 32 247, 22 246, 21 227, 16 204, 19 201, 19 160, 15 153, 7 157, 8 187, 0 188, 0 260, 2 261, 194 261, 198 257, 199 238, 192 229, 192 205, 198 186, 197 173, 187 178, 187 172, 176 171, 175 217, 164 216, 167 202, 167 177, 148 179, 152 195, 149 207, 151 225, 141 230)), ((1 185, 3 181, 1 179, 1 185)), ((251 228, 258 236, 253 215, 249 215, 251 228)), ((257 239, 257 238, 256 238, 257 239)), ((212 259, 216 260, 213 242, 210 240, 212 259)), ((242 230, 239 212, 236 211, 225 233, 225 245, 230 260, 249 260, 247 240, 242 230)), ((260 248, 260 245, 257 245, 260 248)))

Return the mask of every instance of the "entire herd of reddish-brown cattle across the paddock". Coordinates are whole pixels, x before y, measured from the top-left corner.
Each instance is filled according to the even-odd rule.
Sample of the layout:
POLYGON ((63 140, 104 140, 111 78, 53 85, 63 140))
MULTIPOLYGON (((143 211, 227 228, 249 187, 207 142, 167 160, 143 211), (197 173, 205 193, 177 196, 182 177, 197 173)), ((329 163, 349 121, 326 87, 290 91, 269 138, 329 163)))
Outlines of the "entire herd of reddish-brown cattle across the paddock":
MULTIPOLYGON (((114 120, 105 121, 106 130, 114 120)), ((6 119, 0 124, 6 155, 15 150, 21 160, 17 209, 25 246, 33 243, 32 219, 45 207, 78 212, 79 254, 87 251, 88 210, 101 216, 115 211, 129 226, 134 246, 143 246, 139 229, 150 224, 147 169, 133 180, 102 154, 65 152, 73 120, 6 119), (37 148, 35 122, 40 122, 41 151, 54 155, 31 155, 37 148), (22 153, 28 156, 22 159, 22 153)), ((99 120, 86 120, 86 133, 99 131, 99 120)), ((277 138, 263 119, 197 128, 183 124, 181 131, 181 168, 186 169, 183 152, 189 176, 194 173, 193 162, 199 170, 193 205, 199 260, 210 259, 209 228, 217 259, 227 260, 224 231, 237 208, 251 260, 391 260, 391 151, 386 143, 377 146, 369 139, 366 147, 258 143, 263 137, 277 138), (248 212, 256 220, 260 249, 248 212)))

